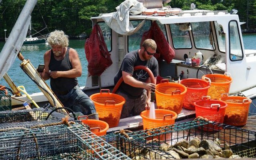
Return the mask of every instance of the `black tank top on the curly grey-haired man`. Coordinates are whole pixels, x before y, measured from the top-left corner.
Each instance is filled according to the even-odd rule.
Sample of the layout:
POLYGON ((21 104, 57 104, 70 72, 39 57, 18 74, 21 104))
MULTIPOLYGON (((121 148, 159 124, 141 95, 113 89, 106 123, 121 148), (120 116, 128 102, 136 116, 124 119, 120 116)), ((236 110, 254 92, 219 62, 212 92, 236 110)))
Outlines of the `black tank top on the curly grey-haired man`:
MULTIPOLYGON (((49 70, 51 71, 66 71, 72 69, 72 64, 69 60, 69 49, 62 60, 56 60, 51 50, 51 59, 49 63, 49 70)), ((53 92, 67 92, 77 85, 77 78, 50 78, 50 85, 53 92)))

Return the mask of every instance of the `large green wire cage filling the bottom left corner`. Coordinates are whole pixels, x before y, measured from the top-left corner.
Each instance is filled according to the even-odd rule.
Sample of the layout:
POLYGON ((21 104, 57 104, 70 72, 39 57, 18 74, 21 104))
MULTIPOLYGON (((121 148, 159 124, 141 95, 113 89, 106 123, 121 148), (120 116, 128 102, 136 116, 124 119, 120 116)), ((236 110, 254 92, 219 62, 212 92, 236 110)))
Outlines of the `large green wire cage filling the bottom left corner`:
POLYGON ((4 160, 129 159, 85 126, 34 126, 0 130, 0 157, 4 160), (37 128, 38 127, 38 128, 37 128))

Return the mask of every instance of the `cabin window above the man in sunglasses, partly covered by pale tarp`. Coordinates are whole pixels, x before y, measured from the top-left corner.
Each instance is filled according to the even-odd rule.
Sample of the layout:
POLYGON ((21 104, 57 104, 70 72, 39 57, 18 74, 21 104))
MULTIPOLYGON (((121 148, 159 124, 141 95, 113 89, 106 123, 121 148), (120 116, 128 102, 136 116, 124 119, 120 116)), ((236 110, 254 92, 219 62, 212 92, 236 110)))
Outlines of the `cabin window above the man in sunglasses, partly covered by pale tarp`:
MULTIPOLYGON (((142 20, 131 20, 134 27, 137 27, 142 20)), ((140 41, 144 32, 148 31, 151 26, 151 20, 146 20, 144 25, 136 33, 128 36, 128 52, 140 49, 140 41)))

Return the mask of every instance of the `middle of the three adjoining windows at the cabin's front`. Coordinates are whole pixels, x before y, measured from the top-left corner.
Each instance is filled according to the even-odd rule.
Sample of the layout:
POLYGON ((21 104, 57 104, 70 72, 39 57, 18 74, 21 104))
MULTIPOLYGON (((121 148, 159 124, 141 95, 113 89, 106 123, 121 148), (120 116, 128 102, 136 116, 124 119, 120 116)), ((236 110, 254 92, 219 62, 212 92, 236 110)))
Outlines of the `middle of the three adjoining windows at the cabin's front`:
POLYGON ((191 29, 197 49, 214 50, 214 45, 211 44, 213 36, 210 31, 210 22, 193 22, 191 29))

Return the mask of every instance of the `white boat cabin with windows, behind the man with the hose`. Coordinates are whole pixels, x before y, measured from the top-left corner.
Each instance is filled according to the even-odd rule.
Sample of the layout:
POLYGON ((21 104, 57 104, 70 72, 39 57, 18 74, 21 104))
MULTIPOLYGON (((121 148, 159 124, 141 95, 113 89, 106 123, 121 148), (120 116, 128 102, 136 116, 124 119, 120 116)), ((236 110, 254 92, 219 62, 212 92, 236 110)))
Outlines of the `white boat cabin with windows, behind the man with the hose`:
POLYGON ((93 25, 97 23, 100 26, 113 64, 101 76, 89 76, 85 90, 113 86, 113 78, 124 55, 140 48, 143 33, 156 21, 175 52, 170 63, 165 60, 159 62, 160 76, 171 76, 177 80, 179 76, 181 79, 201 78, 202 74, 209 74, 210 70, 215 74, 227 72, 233 78, 230 94, 246 91, 247 97, 255 96, 256 50, 244 49, 242 23, 236 14, 184 10, 165 16, 130 15, 130 24, 134 28, 144 22, 137 32, 130 35, 118 34, 104 22, 102 16, 92 17, 91 20, 93 25), (196 56, 198 51, 202 53, 202 63, 191 65, 190 58, 196 56))

